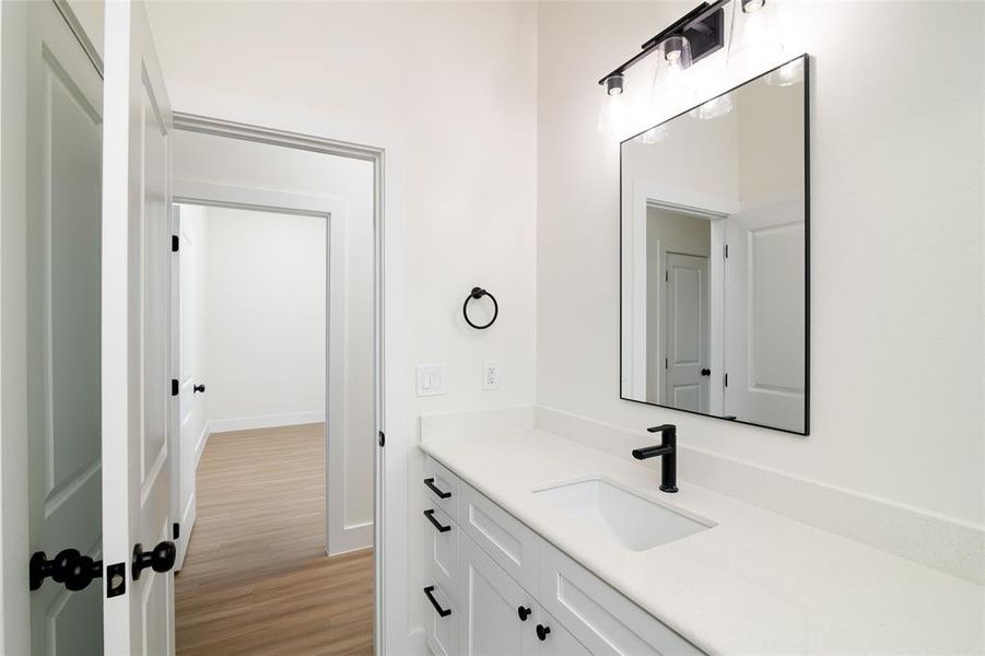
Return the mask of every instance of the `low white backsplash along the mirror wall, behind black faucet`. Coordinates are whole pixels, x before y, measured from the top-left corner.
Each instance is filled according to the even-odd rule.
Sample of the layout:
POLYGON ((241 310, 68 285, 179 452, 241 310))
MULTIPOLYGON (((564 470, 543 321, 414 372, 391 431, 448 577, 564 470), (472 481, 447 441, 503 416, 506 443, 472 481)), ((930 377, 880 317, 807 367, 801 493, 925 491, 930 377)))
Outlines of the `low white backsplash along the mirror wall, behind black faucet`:
MULTIPOLYGON (((629 459, 641 434, 551 408, 537 427, 629 459)), ((679 477, 804 524, 985 584, 985 527, 728 456, 680 447, 679 477)))

